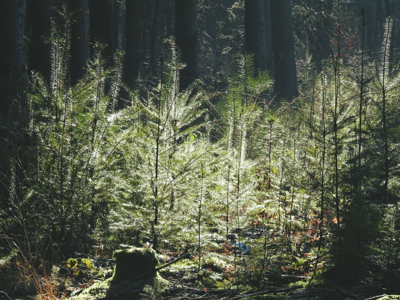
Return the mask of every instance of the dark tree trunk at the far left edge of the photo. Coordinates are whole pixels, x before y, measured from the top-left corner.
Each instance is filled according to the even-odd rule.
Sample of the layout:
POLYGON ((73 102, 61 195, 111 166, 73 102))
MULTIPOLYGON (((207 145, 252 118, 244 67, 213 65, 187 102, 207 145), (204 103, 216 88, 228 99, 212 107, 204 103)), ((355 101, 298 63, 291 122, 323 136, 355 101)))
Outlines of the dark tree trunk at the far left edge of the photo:
POLYGON ((8 203, 10 124, 18 122, 26 74, 24 46, 25 1, 0 1, 0 203, 8 203), (15 103, 15 105, 13 105, 15 103))

